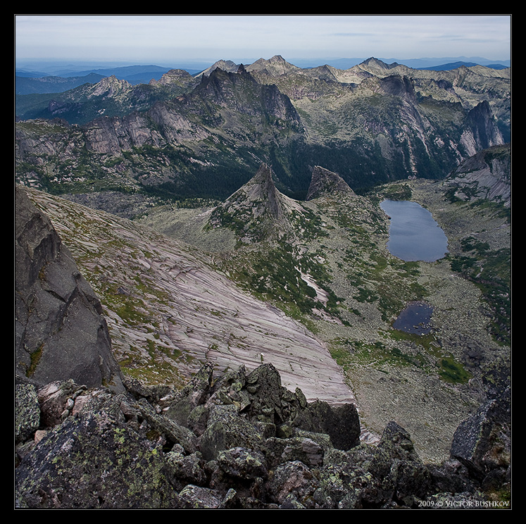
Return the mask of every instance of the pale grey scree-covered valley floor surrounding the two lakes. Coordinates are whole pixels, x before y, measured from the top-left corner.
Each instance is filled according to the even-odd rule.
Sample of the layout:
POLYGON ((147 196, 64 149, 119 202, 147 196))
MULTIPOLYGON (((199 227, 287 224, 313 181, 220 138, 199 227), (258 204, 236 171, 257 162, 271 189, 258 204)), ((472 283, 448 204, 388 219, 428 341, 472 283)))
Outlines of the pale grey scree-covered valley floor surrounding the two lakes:
MULTIPOLYGON (((442 226, 449 238, 451 254, 462 254, 461 239, 472 235, 489 242, 492 249, 509 246, 510 227, 505 219, 469 204, 451 204, 444 199, 440 182, 407 180, 403 183, 411 187, 412 200, 428 208, 442 226)), ((315 208, 311 203, 306 204, 315 208)), ((326 223, 334 223, 330 216, 323 218, 326 223)), ((167 235, 182 235, 187 242, 196 242, 212 251, 218 246, 227 251, 234 246, 225 231, 215 232, 215 237, 198 239, 199 220, 195 212, 192 214, 188 210, 180 213, 172 210, 157 216, 154 213, 142 222, 167 235)), ((379 256, 394 258, 387 252, 387 235, 371 235, 370 238, 377 242, 379 256)), ((337 257, 349 244, 341 244, 336 237, 324 238, 312 249, 319 251, 320 247, 325 260, 334 267, 337 257), (333 261, 330 260, 332 256, 333 261)), ((356 248, 356 243, 352 248, 358 249, 355 255, 360 258, 361 248, 356 248)), ((356 292, 356 289, 349 289, 344 278, 340 280, 333 282, 336 294, 356 292)), ((476 411, 485 398, 482 368, 495 361, 503 361, 506 365, 509 347, 500 346, 488 335, 489 311, 480 290, 453 272, 447 258, 436 263, 418 263, 416 280, 413 284, 426 289, 425 300, 434 308, 431 337, 404 337, 392 329, 394 317, 386 322, 375 304, 368 301, 351 301, 351 308, 359 309, 360 313, 349 317, 346 325, 313 318, 306 325, 327 344, 344 370, 356 396, 365 435, 374 440, 389 420, 395 420, 411 433, 422 459, 439 462, 449 456, 458 424, 476 411), (448 382, 442 378, 444 358, 465 372, 461 380, 448 382)), ((380 289, 378 282, 368 282, 375 292, 380 289)))

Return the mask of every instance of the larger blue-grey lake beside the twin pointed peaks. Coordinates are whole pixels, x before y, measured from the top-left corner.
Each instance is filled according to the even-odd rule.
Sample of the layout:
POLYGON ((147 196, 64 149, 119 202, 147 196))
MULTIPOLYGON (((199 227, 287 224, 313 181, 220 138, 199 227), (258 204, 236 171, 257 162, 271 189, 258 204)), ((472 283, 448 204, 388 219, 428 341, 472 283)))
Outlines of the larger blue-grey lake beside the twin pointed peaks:
POLYGON ((401 260, 434 262, 447 253, 447 237, 432 214, 416 202, 384 200, 389 220, 389 252, 401 260))

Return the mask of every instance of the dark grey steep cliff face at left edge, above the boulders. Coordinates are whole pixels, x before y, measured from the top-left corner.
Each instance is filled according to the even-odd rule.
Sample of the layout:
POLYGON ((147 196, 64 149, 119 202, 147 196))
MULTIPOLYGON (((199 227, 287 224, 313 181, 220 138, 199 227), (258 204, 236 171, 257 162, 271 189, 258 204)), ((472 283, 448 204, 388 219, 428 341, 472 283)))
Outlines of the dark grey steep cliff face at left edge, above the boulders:
POLYGON ((51 225, 15 189, 15 370, 123 389, 101 306, 51 225))

